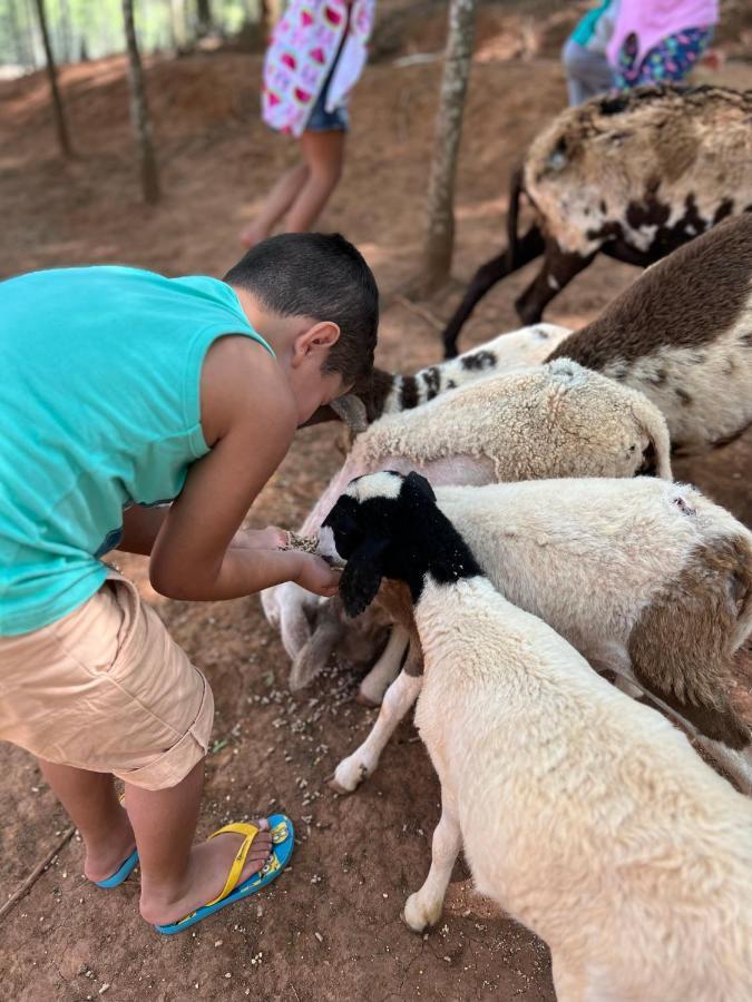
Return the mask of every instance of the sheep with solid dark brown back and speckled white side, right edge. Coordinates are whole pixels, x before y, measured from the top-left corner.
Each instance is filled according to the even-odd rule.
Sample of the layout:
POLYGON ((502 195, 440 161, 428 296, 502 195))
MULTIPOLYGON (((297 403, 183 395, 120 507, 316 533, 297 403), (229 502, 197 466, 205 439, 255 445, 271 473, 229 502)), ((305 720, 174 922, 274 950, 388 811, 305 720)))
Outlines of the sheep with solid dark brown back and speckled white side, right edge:
POLYGON ((564 357, 644 393, 674 451, 740 435, 752 423, 752 214, 648 268, 548 361, 564 357))

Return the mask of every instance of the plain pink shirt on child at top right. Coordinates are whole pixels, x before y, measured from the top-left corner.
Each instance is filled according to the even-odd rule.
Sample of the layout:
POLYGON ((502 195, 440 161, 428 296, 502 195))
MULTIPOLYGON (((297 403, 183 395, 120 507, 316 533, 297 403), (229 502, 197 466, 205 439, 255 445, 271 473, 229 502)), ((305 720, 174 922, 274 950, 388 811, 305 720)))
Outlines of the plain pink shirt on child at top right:
POLYGON ((706 28, 719 20, 719 0, 621 0, 608 42, 612 66, 618 66, 618 53, 628 35, 637 36, 639 65, 662 39, 686 28, 706 28))

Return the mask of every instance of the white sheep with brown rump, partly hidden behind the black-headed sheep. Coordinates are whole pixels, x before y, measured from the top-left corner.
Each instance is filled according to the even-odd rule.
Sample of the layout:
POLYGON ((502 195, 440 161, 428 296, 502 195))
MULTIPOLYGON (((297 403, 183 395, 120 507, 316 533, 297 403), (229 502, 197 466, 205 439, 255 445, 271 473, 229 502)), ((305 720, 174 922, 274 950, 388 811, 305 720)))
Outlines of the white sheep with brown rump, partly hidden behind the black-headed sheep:
MULTIPOLYGON (((752 532, 695 489, 653 478, 436 487, 434 493, 508 601, 543 619, 596 670, 615 675, 625 691, 645 694, 676 717, 752 793, 752 532)), ((320 552, 332 556, 324 530, 320 552)), ((412 610, 388 587, 351 620, 350 632, 379 606, 382 618, 399 625, 404 646, 382 655, 381 674, 395 681, 372 731, 336 767, 341 794, 377 769, 420 691, 412 610)), ((321 655, 318 623, 313 638, 321 655)))

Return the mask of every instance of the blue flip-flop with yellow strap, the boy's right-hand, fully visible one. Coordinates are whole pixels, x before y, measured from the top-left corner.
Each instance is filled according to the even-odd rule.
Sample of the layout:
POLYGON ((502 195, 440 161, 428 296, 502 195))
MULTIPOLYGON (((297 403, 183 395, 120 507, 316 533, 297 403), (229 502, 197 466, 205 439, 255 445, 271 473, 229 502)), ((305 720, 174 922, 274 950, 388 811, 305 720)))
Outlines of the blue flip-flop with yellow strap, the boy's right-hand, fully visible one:
POLYGON ((165 936, 172 936, 175 933, 183 932, 185 929, 191 929, 196 922, 201 922, 202 918, 213 915, 228 904, 235 904, 236 901, 241 901, 243 897, 250 897, 252 894, 255 894, 256 891, 261 891, 262 887, 271 884, 272 881, 275 881, 280 876, 287 863, 290 863, 290 858, 293 854, 295 831, 292 822, 284 814, 272 814, 267 819, 273 848, 268 862, 264 864, 258 873, 254 873, 253 876, 250 876, 247 881, 243 881, 242 884, 237 883, 240 875, 243 872, 245 857, 260 829, 256 828, 255 825, 244 824, 243 822, 225 825, 223 828, 219 828, 217 832, 209 835, 209 838, 215 838, 217 835, 229 832, 236 835, 245 835, 245 841, 237 851, 222 894, 219 894, 218 897, 215 897, 214 901, 209 901, 207 904, 203 905, 201 908, 196 908, 195 912, 186 915, 185 918, 180 918, 179 922, 173 922, 170 925, 155 925, 154 927, 157 932, 165 936))

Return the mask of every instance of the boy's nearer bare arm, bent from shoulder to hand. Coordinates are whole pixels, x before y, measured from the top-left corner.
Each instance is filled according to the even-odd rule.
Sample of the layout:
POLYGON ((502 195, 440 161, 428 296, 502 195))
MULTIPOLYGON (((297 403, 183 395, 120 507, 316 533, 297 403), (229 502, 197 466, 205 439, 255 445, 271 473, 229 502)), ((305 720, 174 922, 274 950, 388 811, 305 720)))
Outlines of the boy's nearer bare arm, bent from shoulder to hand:
POLYGON ((247 351, 247 340, 238 341, 225 338, 221 351, 215 346, 207 355, 202 423, 213 444, 188 471, 157 534, 152 583, 172 598, 199 601, 238 598, 283 581, 334 595, 339 576, 318 557, 231 546, 297 425, 277 363, 263 348, 247 351))

